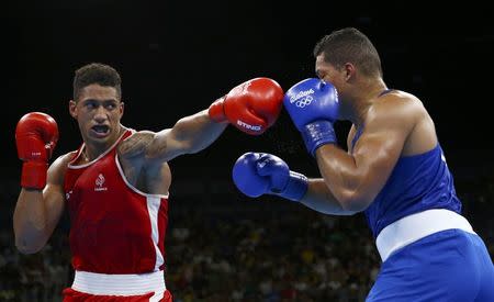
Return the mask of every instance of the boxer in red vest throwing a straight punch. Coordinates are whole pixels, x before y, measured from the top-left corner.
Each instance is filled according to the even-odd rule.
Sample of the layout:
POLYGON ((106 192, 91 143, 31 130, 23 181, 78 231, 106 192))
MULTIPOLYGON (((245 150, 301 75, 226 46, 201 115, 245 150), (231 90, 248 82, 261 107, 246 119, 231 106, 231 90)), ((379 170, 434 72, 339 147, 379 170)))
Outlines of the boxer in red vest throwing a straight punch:
POLYGON ((55 120, 32 112, 15 130, 23 160, 15 245, 24 254, 41 250, 67 206, 75 280, 64 301, 171 301, 164 273, 167 161, 204 149, 228 123, 251 135, 263 133, 281 111, 283 91, 269 78, 256 78, 157 133, 123 126, 121 97, 114 68, 79 68, 69 111, 82 144, 49 168, 58 139, 55 120))

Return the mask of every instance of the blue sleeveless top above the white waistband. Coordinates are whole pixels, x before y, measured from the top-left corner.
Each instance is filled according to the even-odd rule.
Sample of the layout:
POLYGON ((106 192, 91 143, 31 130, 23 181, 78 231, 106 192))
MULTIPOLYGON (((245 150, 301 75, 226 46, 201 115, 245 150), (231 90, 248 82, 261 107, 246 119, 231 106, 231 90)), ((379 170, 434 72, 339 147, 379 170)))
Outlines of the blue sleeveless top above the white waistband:
MULTIPOLYGON (((363 127, 357 131, 351 142, 352 149, 362 132, 363 127)), ((381 230, 391 223, 430 209, 461 214, 461 201, 439 143, 423 154, 400 157, 364 214, 372 235, 378 237, 381 230)))

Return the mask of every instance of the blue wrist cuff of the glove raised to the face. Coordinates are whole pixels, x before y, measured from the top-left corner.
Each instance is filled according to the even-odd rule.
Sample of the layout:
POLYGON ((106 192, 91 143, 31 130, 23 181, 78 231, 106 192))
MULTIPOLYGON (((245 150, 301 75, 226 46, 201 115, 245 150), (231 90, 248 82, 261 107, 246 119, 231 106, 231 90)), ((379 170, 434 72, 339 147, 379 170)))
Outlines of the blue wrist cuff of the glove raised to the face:
POLYGON ((333 123, 329 121, 315 121, 306 124, 302 130, 305 147, 312 156, 315 150, 325 144, 336 144, 336 133, 333 123))

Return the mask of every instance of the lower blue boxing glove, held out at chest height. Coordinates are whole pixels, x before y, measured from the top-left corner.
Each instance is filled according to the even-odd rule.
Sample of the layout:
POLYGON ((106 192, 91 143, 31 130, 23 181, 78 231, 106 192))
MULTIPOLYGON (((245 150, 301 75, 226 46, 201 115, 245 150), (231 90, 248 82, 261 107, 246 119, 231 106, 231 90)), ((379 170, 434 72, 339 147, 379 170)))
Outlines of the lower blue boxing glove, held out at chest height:
POLYGON ((291 171, 283 159, 267 153, 246 153, 233 167, 233 180, 244 194, 257 198, 276 194, 300 201, 307 191, 304 175, 291 171))

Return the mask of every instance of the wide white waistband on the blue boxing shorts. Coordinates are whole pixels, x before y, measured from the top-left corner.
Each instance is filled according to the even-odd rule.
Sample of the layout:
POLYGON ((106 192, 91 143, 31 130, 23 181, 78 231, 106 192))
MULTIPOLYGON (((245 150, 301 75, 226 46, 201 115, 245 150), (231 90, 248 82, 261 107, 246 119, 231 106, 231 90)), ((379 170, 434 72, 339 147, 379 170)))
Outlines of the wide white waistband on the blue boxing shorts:
POLYGON ((375 245, 384 262, 396 249, 430 234, 451 228, 475 234, 463 216, 449 210, 435 209, 405 216, 388 225, 379 233, 375 245))

